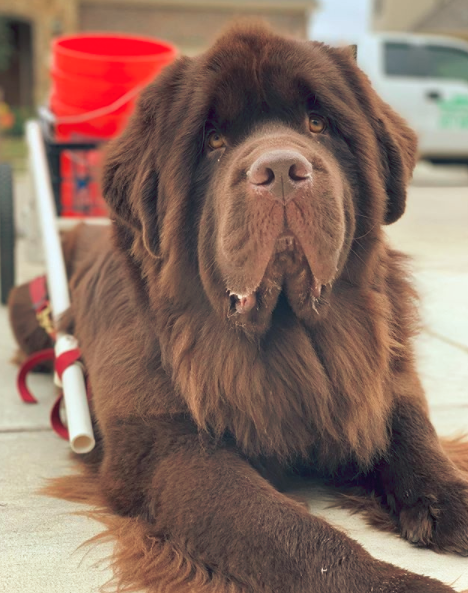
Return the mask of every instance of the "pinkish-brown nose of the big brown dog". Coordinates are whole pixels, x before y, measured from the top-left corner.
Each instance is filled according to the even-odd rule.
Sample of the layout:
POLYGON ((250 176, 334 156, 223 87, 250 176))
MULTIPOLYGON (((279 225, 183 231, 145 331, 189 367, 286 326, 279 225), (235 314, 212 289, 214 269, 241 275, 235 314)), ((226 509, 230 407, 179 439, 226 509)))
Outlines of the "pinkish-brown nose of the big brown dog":
POLYGON ((297 190, 312 181, 312 165, 295 150, 272 150, 262 154, 247 171, 249 182, 286 204, 297 190))

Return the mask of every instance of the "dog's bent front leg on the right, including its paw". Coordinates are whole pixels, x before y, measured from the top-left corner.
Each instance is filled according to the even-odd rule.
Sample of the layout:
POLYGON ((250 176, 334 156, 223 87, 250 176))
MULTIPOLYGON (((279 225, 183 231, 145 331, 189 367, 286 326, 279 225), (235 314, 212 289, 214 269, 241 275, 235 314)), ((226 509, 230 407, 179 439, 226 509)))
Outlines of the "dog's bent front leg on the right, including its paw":
POLYGON ((442 450, 422 398, 397 402, 380 475, 403 537, 468 555, 468 481, 442 450))

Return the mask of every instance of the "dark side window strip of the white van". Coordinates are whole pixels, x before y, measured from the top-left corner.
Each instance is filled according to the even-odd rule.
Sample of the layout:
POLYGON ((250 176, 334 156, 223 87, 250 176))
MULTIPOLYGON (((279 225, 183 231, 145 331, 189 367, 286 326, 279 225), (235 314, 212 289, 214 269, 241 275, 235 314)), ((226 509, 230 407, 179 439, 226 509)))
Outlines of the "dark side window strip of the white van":
POLYGON ((441 45, 385 43, 388 76, 449 78, 468 81, 468 52, 441 45))

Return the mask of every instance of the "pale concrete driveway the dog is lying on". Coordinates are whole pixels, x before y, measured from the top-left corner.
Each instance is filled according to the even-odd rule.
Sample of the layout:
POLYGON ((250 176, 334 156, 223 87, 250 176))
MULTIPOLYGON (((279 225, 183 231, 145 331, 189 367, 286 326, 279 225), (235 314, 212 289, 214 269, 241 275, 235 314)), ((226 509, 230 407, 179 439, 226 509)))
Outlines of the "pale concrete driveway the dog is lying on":
MULTIPOLYGON (((468 432, 468 175, 466 170, 418 168, 405 217, 388 228, 392 243, 414 257, 424 329, 418 360, 433 422, 442 435, 468 432)), ((24 246, 22 247, 24 248, 24 246)), ((40 273, 20 254, 20 281, 40 273)), ((71 513, 80 507, 37 496, 45 478, 69 469, 68 446, 50 430, 51 380, 31 385, 40 405, 26 406, 9 364, 14 343, 0 308, 0 592, 90 593, 109 573, 94 564, 108 550, 84 557, 78 546, 99 525, 71 513)), ((360 541, 374 556, 468 589, 468 559, 411 547, 368 528, 359 516, 327 508, 330 493, 311 489, 310 509, 360 541)))

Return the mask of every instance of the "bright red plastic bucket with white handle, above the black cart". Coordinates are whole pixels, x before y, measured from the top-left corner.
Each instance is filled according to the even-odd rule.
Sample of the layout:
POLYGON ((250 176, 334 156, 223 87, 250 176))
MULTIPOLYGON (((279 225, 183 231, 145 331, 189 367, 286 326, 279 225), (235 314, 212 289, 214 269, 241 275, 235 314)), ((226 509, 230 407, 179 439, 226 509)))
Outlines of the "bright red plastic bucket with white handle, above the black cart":
POLYGON ((55 39, 50 107, 57 116, 57 135, 115 135, 125 125, 138 92, 176 53, 169 43, 133 35, 94 33, 55 39))

